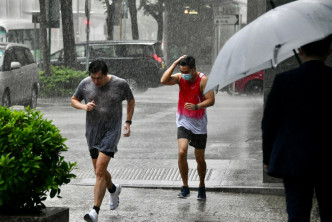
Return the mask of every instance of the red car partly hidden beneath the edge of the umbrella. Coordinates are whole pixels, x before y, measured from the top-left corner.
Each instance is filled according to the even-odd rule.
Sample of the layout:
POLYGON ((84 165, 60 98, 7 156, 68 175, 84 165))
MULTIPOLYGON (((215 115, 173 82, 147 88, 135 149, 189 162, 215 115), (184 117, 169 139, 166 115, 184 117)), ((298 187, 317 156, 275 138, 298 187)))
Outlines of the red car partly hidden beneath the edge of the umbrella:
POLYGON ((230 95, 247 94, 262 95, 263 94, 264 70, 253 73, 247 77, 237 80, 221 89, 230 95))

